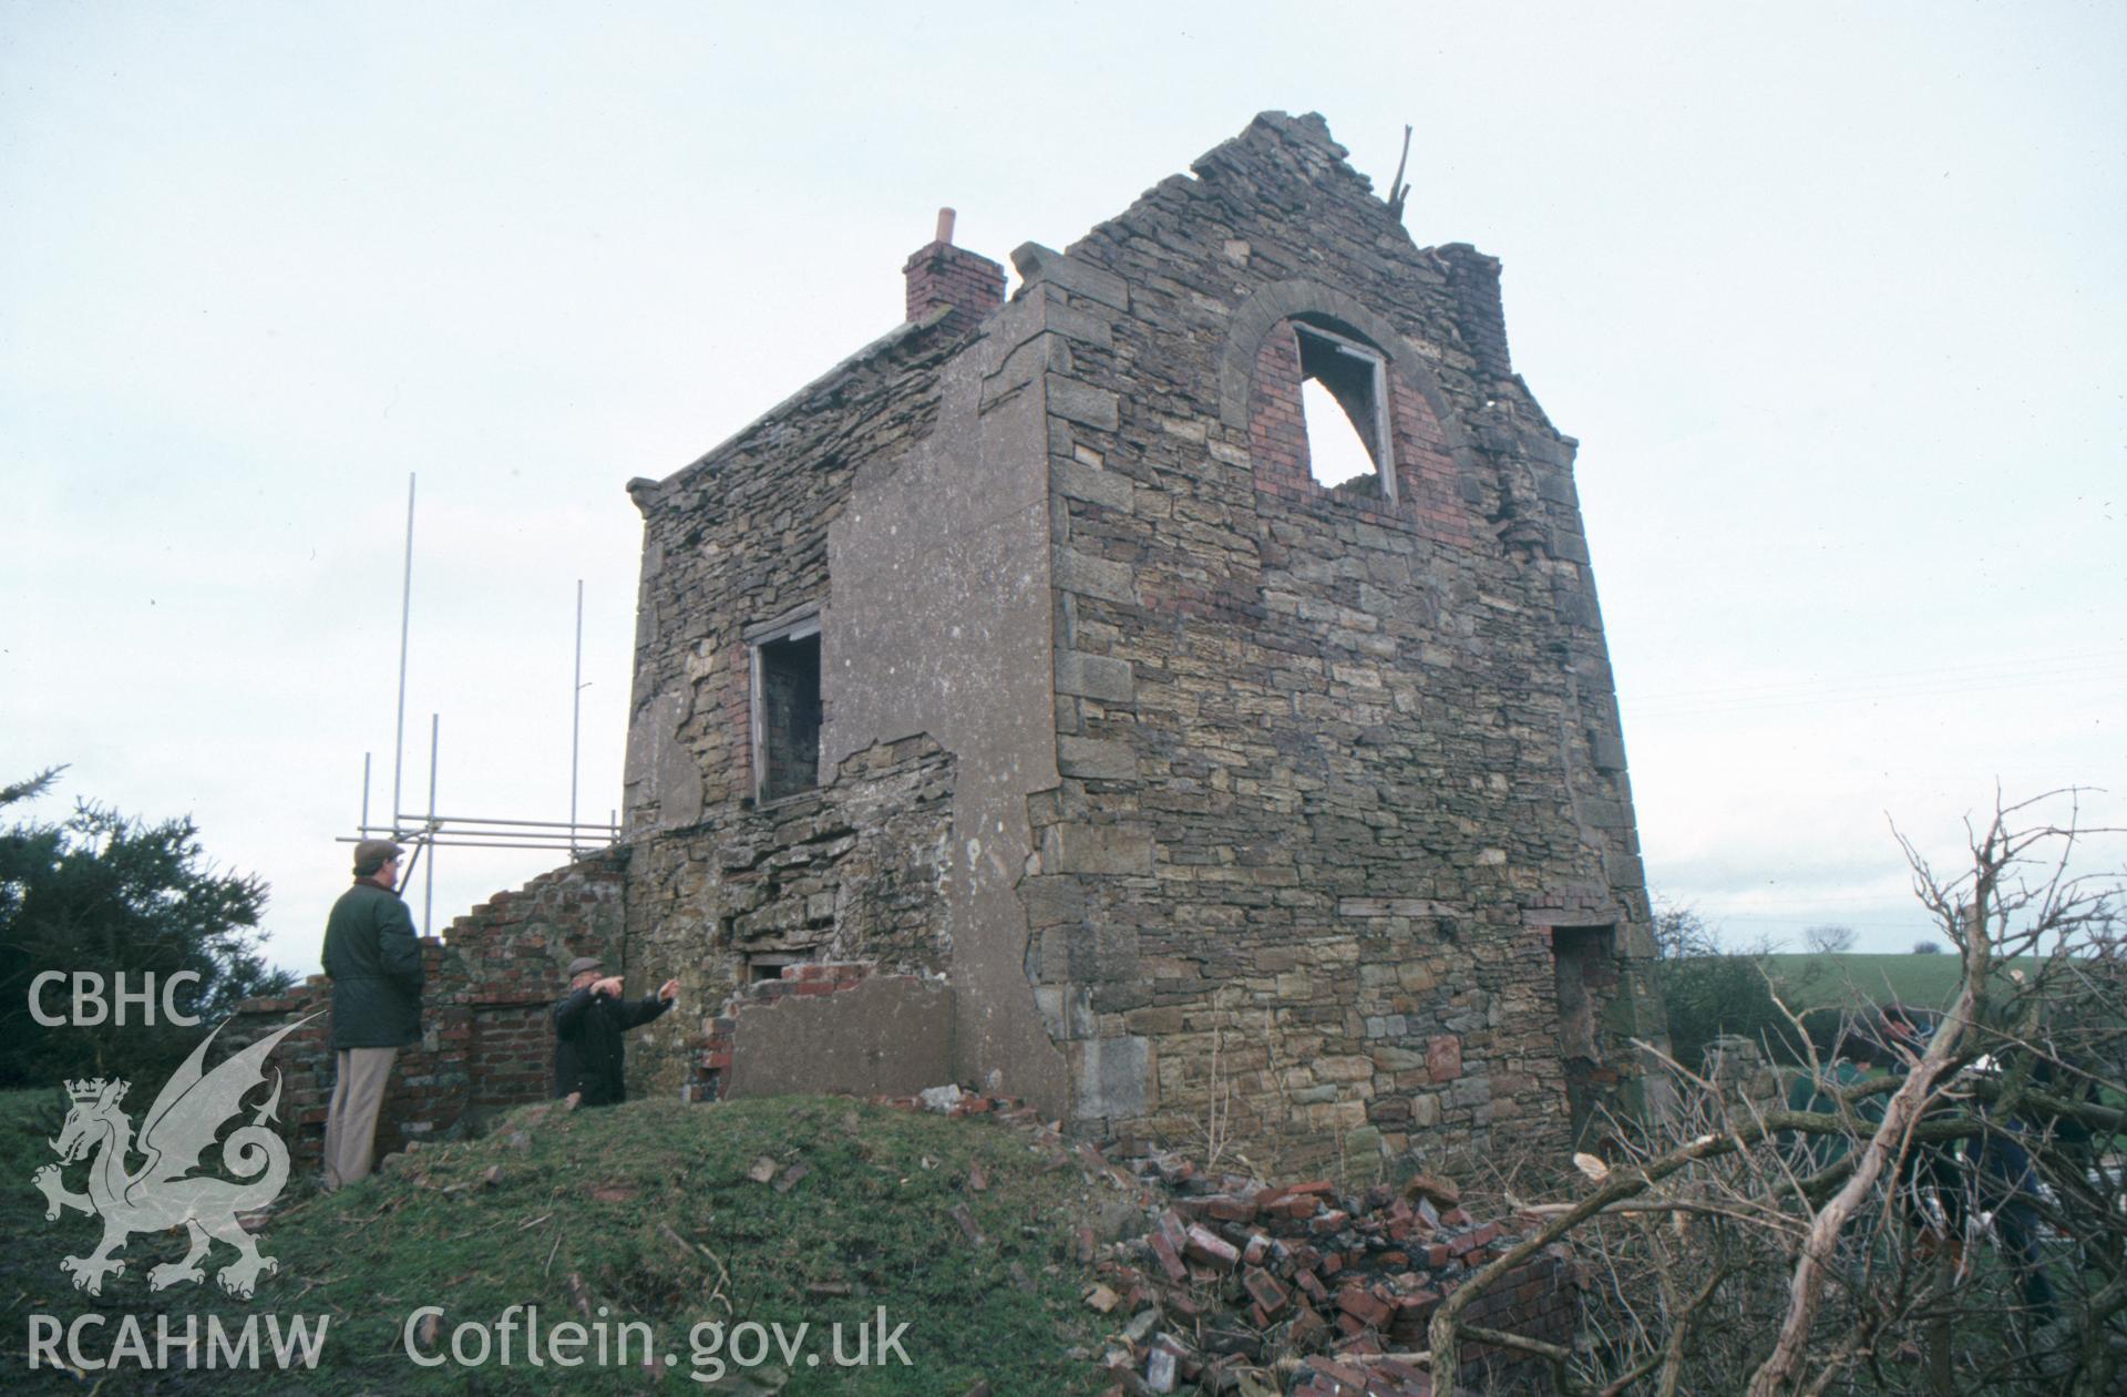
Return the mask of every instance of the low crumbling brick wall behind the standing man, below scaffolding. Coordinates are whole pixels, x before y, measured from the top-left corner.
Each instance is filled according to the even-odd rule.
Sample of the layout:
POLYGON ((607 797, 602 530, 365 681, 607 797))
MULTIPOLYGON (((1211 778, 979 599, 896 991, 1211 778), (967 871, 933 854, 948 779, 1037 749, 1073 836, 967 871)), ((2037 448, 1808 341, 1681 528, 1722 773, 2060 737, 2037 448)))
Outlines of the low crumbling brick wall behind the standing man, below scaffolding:
MULTIPOLYGON (((513 893, 423 938, 428 984, 421 1040, 404 1048, 376 1121, 379 1157, 408 1140, 462 1133, 483 1118, 547 1097, 564 967, 579 955, 621 955, 627 855, 608 851, 540 874, 513 893)), ((281 1070, 281 1131, 298 1169, 317 1167, 332 1099, 332 982, 317 974, 287 995, 247 999, 223 1029, 228 1046, 255 1042, 311 1016, 289 1033, 281 1070)))

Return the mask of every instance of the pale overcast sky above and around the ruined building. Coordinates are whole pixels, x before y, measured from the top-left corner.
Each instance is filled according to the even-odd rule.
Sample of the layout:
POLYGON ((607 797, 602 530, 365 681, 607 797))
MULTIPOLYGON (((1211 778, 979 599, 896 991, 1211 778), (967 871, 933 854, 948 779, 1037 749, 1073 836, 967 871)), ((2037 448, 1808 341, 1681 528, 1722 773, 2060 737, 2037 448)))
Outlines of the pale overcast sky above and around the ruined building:
MULTIPOLYGON (((1263 108, 1504 259, 1651 887, 1923 931, 1887 819, 2127 825, 2127 6, 0 4, 0 782, 191 814, 311 970, 389 804, 619 804, 666 476, 1263 108)), ((2118 846, 2106 855, 2118 863, 2118 846)), ((436 923, 551 865, 451 851, 436 923)), ((419 914, 421 889, 413 889, 419 914)))

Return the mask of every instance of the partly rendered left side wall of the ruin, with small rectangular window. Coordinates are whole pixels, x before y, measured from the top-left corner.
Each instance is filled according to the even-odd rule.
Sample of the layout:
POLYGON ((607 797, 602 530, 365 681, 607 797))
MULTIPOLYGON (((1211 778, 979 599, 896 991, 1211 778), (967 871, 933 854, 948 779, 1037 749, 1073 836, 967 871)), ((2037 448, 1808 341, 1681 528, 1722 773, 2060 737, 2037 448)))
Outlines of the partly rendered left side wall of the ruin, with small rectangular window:
MULTIPOLYGON (((934 245, 910 262, 910 306, 968 281, 932 276, 942 255, 934 245)), ((1038 306, 983 308, 932 304, 693 466, 634 485, 630 946, 704 1006, 791 959, 949 974, 951 1070, 1000 1074, 1061 1110, 1061 1057, 1034 1012, 1012 893, 1029 853, 1025 797, 1055 785, 1053 334, 1038 306), (785 795, 778 772, 776 800, 757 800, 749 646, 800 629, 819 634, 821 785, 785 795), (925 765, 936 761, 947 765, 925 765), (883 887, 868 868, 887 865, 906 874, 895 887, 936 889, 921 923, 868 914, 883 887), (813 880, 804 906, 781 891, 791 878, 813 880), (836 889, 857 895, 836 902, 836 889)), ((906 1046, 915 1063, 932 1044, 906 1046)), ((742 1057, 744 1031, 730 1050, 742 1057)), ((721 1048, 653 1040, 638 1061, 659 1089, 706 1089, 689 1053, 721 1048)))

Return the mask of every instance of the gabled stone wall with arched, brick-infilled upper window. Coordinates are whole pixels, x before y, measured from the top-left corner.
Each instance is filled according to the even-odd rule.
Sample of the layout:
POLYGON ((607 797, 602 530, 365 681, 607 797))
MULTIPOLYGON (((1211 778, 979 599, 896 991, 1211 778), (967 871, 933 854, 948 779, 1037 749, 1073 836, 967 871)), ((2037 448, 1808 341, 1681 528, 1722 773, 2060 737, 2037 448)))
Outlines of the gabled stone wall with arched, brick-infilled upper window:
POLYGON ((1572 440, 1506 366, 1497 264, 1414 247, 1342 155, 1272 113, 1015 253, 1083 325, 1029 976, 1083 1121, 1548 1150, 1555 929, 1614 927, 1576 1089, 1629 1097, 1659 1036, 1572 440), (1387 359, 1393 498, 1308 474, 1293 321, 1387 359))

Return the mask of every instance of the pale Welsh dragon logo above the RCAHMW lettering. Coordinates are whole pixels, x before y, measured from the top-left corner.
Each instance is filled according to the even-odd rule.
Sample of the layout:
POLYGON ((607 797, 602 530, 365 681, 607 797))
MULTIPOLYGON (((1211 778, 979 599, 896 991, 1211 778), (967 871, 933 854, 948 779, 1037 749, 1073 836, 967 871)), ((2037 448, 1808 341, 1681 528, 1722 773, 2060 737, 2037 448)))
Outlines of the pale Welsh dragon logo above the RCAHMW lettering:
POLYGON ((132 1121, 119 1108, 132 1082, 96 1078, 91 1082, 68 1082, 66 1095, 72 1110, 51 1148, 60 1163, 45 1165, 30 1176, 45 1195, 45 1221, 53 1221, 62 1210, 102 1214, 104 1240, 87 1257, 66 1257, 60 1269, 72 1274, 74 1289, 102 1295, 104 1276, 119 1276, 125 1263, 115 1259, 125 1238, 136 1231, 168 1231, 183 1227, 191 1238, 191 1250, 183 1261, 155 1265, 147 1274, 149 1291, 174 1286, 181 1280, 206 1280, 200 1261, 215 1240, 228 1242, 238 1257, 221 1267, 217 1280, 221 1289, 238 1299, 251 1299, 257 1278, 277 1269, 272 1257, 262 1257, 257 1242, 236 1221, 238 1212, 264 1208, 281 1195, 287 1184, 287 1146, 266 1127, 274 1121, 281 1104, 281 1074, 272 1076, 272 1093, 251 1114, 249 1125, 230 1131, 221 1142, 221 1167, 245 1182, 230 1182, 215 1176, 194 1174, 200 1155, 232 1118, 245 1114, 245 1097, 266 1080, 266 1059, 274 1046, 291 1031, 308 1023, 296 1021, 270 1033, 249 1048, 232 1055, 213 1072, 202 1072, 208 1044, 215 1033, 200 1040, 191 1057, 170 1074, 155 1104, 147 1108, 140 1123, 140 1140, 134 1142, 132 1121), (62 1180, 66 1165, 87 1159, 89 1191, 74 1193, 62 1180), (140 1155, 145 1163, 130 1169, 128 1161, 140 1155))

